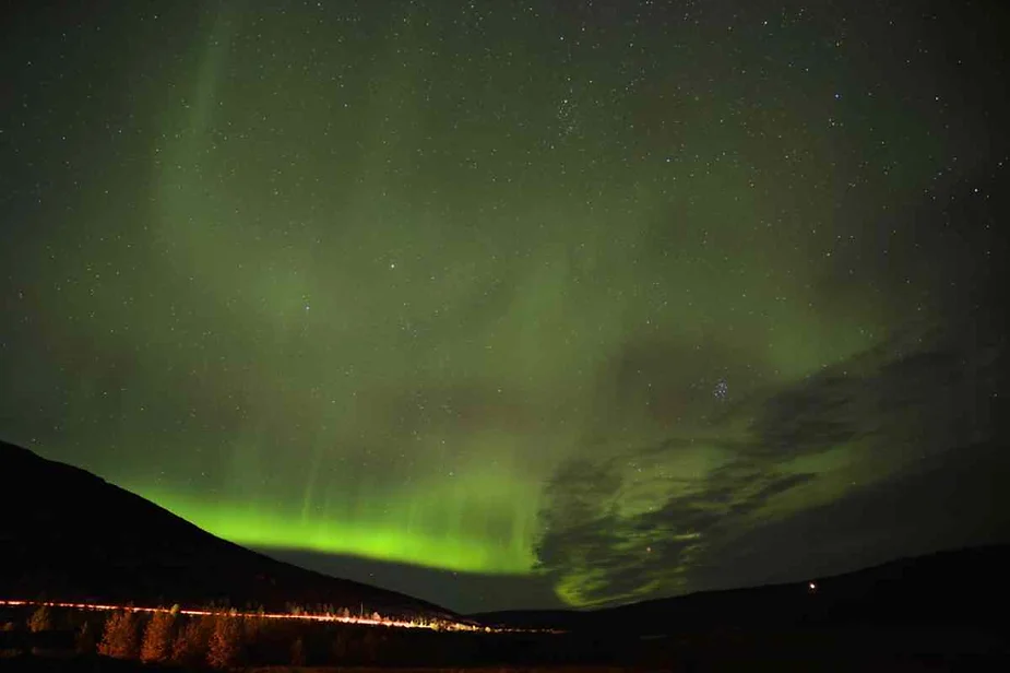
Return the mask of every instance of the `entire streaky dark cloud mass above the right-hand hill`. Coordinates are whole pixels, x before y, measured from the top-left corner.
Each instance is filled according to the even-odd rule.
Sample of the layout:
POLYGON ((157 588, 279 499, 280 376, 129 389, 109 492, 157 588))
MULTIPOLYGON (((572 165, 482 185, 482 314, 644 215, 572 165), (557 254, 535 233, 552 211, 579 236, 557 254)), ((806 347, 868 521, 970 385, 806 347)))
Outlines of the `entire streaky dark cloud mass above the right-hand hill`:
POLYGON ((998 350, 956 333, 895 335, 735 406, 723 421, 751 417, 747 441, 670 438, 623 461, 566 463, 546 492, 539 568, 579 587, 569 599, 604 604, 998 539, 1010 519, 984 530, 978 522, 997 500, 991 475, 1010 474, 999 444, 1006 436, 997 409, 1006 380, 999 365, 998 350), (629 476, 629 464, 654 469, 699 446, 725 461, 693 480, 629 476), (816 465, 832 450, 858 461, 874 485, 843 484, 827 505, 756 520, 798 488, 821 480, 837 487, 827 468, 791 467, 799 458, 816 465), (988 495, 975 491, 977 484, 988 484, 982 488, 988 495), (622 501, 650 497, 656 487, 665 493, 662 505, 622 513, 622 501), (932 512, 926 523, 925 510, 932 512))

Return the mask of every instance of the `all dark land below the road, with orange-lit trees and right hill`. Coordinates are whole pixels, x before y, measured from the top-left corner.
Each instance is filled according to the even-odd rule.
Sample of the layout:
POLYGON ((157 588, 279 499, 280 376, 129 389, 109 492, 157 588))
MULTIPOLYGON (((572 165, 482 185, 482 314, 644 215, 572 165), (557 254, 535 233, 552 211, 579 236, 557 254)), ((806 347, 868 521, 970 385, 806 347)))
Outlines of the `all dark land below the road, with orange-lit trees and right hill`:
POLYGON ((981 547, 596 612, 475 617, 522 631, 9 606, 0 670, 1010 671, 1008 567, 1010 547, 981 547), (556 630, 528 630, 544 628, 556 630))

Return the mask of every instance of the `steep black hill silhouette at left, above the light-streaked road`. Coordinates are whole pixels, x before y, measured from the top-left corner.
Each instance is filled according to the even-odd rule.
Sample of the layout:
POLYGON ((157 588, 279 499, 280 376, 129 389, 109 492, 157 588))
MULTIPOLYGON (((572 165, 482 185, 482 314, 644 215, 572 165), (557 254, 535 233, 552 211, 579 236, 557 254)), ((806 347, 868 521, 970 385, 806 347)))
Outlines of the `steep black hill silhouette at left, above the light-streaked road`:
POLYGON ((329 604, 353 614, 454 616, 252 552, 90 472, 2 441, 0 474, 2 599, 268 610, 329 604))

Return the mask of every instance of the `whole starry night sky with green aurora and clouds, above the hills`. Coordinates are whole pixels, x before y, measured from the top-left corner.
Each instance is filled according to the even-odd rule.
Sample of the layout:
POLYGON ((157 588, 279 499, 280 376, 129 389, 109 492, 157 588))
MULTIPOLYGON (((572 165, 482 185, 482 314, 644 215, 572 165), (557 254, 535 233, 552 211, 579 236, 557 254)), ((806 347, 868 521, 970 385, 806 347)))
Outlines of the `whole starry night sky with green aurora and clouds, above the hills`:
POLYGON ((1010 541, 1005 3, 17 4, 5 440, 467 612, 1010 541))

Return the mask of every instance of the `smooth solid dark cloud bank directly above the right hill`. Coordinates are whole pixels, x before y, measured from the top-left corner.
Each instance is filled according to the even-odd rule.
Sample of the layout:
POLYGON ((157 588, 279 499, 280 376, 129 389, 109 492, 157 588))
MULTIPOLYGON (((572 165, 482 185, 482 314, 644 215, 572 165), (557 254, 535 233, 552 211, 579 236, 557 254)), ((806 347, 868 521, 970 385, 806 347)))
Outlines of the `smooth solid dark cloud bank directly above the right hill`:
POLYGON ((1010 535, 1007 474, 1005 442, 937 453, 825 505, 713 541, 705 563, 693 568, 692 587, 794 581, 1005 541, 1010 535))

